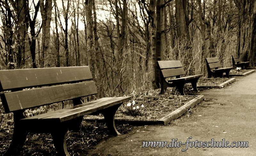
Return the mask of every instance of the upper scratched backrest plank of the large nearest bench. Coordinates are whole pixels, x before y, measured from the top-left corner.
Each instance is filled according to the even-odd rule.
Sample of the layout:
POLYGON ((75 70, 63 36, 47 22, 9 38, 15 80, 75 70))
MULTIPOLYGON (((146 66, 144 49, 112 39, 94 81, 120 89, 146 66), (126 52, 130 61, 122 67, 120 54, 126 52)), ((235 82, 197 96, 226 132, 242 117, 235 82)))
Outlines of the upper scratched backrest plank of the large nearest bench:
POLYGON ((0 91, 91 80, 88 66, 0 71, 0 91))

